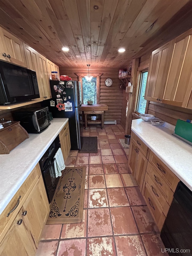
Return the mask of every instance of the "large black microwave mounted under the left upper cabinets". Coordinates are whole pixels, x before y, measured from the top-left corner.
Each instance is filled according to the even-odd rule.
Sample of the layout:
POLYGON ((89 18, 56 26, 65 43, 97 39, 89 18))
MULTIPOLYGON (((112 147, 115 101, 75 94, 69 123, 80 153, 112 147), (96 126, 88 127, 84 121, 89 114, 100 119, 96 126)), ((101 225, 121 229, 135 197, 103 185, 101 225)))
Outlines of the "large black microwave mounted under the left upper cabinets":
POLYGON ((0 61, 0 104, 40 98, 36 72, 0 61))

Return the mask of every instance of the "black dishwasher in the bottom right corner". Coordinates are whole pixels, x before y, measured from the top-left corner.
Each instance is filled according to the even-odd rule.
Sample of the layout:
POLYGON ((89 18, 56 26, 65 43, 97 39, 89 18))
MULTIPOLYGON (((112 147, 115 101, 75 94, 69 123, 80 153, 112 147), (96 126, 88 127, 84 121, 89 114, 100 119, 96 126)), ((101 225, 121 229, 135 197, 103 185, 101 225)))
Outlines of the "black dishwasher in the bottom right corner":
POLYGON ((192 191, 181 181, 161 230, 161 239, 170 256, 192 255, 192 191))

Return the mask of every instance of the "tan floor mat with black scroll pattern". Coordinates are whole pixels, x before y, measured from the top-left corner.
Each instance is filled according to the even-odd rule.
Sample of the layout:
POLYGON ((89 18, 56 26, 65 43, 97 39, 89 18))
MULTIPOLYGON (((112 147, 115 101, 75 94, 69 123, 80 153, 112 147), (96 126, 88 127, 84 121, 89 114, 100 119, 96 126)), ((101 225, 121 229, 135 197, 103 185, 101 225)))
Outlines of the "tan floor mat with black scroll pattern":
POLYGON ((46 224, 81 222, 85 191, 86 167, 68 167, 62 171, 50 204, 46 224))

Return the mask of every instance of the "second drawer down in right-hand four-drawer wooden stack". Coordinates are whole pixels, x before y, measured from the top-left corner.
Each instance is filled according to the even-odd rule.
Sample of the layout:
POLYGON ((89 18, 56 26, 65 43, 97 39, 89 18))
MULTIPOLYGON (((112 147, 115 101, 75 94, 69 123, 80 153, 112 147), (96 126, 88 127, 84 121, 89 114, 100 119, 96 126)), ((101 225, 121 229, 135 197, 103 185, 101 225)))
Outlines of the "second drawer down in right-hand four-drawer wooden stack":
POLYGON ((173 200, 173 191, 162 178, 161 173, 158 173, 158 171, 155 170, 155 168, 149 162, 147 164, 146 171, 151 177, 152 181, 156 184, 157 188, 161 191, 161 194, 164 195, 167 203, 170 205, 173 200))

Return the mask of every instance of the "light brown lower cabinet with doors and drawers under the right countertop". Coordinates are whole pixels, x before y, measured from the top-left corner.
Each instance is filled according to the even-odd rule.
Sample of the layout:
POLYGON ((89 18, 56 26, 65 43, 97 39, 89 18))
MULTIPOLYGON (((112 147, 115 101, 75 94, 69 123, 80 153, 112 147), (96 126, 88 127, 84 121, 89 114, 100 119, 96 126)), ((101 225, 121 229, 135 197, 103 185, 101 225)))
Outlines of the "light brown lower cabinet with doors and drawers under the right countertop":
POLYGON ((179 182, 178 177, 133 132, 128 167, 161 231, 179 182))

